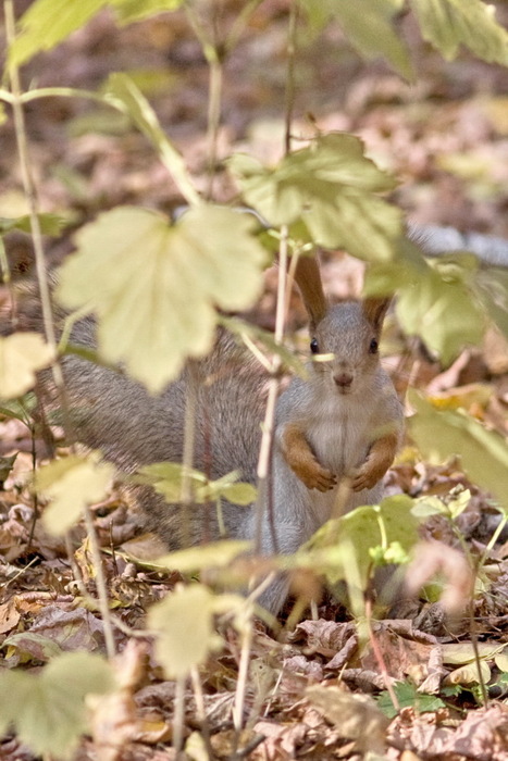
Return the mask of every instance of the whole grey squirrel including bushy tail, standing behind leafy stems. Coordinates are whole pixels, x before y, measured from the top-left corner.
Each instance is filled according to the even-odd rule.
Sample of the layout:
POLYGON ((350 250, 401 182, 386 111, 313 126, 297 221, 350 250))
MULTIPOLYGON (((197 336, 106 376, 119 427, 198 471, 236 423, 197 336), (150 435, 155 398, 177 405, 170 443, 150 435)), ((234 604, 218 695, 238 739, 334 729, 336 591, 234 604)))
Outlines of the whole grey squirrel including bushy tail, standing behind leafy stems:
MULTIPOLYGON (((376 503, 402 432, 402 407, 382 369, 379 340, 389 299, 348 301, 330 307, 319 265, 301 258, 296 267, 310 322, 308 378, 294 377, 280 396, 272 445, 270 504, 264 506, 261 550, 292 553, 334 514, 339 483, 348 478, 345 506, 376 503)), ((25 328, 34 326, 25 325, 25 328)), ((75 323, 71 341, 95 347, 96 324, 75 323)), ((220 329, 211 353, 195 361, 198 411, 194 466, 211 479, 239 471, 256 485, 267 377, 233 337, 220 329)), ((63 373, 76 438, 100 449, 107 460, 133 473, 161 461, 182 462, 186 389, 190 370, 160 396, 140 384, 77 355, 63 358, 63 373)), ((49 371, 39 375, 42 406, 54 408, 49 371)), ((53 389, 54 390, 54 389, 53 389)), ((170 549, 220 538, 213 508, 168 504, 151 487, 129 487, 148 526, 170 549), (185 519, 185 520, 184 520, 185 519)), ((223 500, 225 535, 252 539, 253 509, 223 500)), ((281 577, 263 594, 272 613, 287 595, 281 577)))

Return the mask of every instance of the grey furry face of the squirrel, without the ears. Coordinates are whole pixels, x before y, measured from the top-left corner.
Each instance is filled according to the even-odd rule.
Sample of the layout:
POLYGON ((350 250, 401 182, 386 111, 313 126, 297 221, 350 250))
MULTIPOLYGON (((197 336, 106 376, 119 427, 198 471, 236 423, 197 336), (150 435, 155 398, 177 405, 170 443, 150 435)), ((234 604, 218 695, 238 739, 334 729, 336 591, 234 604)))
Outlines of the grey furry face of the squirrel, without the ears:
POLYGON ((340 395, 361 392, 379 366, 381 320, 373 321, 364 302, 332 307, 311 334, 314 370, 340 395))

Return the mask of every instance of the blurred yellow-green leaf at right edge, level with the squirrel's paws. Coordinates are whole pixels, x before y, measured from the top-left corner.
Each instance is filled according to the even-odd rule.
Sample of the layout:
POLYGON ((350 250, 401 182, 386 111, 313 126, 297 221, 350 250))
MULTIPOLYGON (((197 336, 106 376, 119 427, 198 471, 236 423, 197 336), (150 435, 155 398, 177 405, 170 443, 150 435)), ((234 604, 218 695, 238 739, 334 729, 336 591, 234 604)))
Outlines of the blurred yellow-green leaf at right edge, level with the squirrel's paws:
POLYGON ((467 414, 438 411, 417 394, 410 402, 417 414, 409 431, 423 457, 433 463, 460 457, 471 481, 508 508, 508 445, 503 436, 467 414))

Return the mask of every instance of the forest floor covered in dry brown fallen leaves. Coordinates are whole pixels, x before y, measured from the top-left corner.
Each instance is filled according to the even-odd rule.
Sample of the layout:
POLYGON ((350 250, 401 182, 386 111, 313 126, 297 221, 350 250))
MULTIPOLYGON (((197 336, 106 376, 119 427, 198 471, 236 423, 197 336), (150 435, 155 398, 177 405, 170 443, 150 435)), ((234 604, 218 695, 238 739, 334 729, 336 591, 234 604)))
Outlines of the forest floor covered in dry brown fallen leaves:
MULTIPOLYGON (((225 3, 224 24, 231 23, 237 7, 233 1, 225 3)), ((285 0, 267 0, 225 63, 220 158, 248 150, 273 162, 283 153, 286 10, 285 0)), ((507 24, 507 9, 500 10, 507 24)), ((410 17, 401 25, 418 72, 413 85, 404 83, 383 63, 362 62, 336 27, 302 47, 293 132, 305 139, 318 125, 323 132, 347 130, 362 137, 369 155, 398 177, 393 200, 410 221, 508 239, 506 70, 466 54, 446 63, 421 41, 410 17)), ((125 71, 135 78, 184 154, 197 186, 205 189, 208 67, 185 16, 165 14, 119 28, 112 15, 100 13, 70 40, 30 62, 23 78, 25 86, 96 89, 112 71, 125 71)), ((46 240, 51 265, 72 250, 73 230, 101 211, 137 204, 171 214, 181 204, 152 148, 124 118, 113 118, 89 101, 48 98, 28 105, 27 124, 41 208, 69 220, 61 236, 46 240)), ((26 202, 10 118, 2 125, 1 146, 0 216, 14 217, 26 212, 26 202)), ((219 201, 235 196, 222 170, 214 191, 219 201)), ((9 234, 5 247, 15 276, 29 275, 29 237, 9 234)), ((323 262, 327 292, 333 298, 358 296, 362 272, 363 265, 346 254, 327 254, 323 262)), ((274 271, 267 273, 264 295, 250 314, 268 328, 273 327, 275 279, 274 271)), ((8 299, 5 289, 0 290, 0 299, 8 299)), ((289 332, 303 324, 295 295, 289 332)), ((400 370, 398 355, 387 361, 395 373, 400 370)), ((448 369, 417 347, 404 373, 404 378, 396 378, 399 385, 410 376, 413 386, 441 398, 443 406, 463 407, 507 435, 508 347, 497 334, 490 334, 482 348, 464 350, 448 369)), ((0 492, 0 574, 4 576, 0 658, 8 668, 23 664, 37 670, 55 652, 103 652, 104 638, 99 614, 84 603, 73 584, 63 540, 49 536, 40 522, 30 539, 34 501, 26 477, 33 464, 32 449, 29 432, 20 421, 0 422, 1 458, 17 454, 0 492)), ((40 442, 36 450, 42 456, 40 442)), ((0 464, 4 463, 2 459, 0 464)), ((228 631, 224 649, 210 657, 200 672, 208 749, 193 751, 189 744, 188 758, 324 760, 363 758, 370 752, 404 761, 508 759, 508 661, 504 653, 508 533, 503 532, 490 546, 498 512, 490 496, 469 483, 457 462, 439 466, 424 462, 408 442, 387 479, 392 494, 404 491, 412 497, 445 496, 454 487, 457 494, 460 488, 470 489, 467 509, 453 526, 442 515, 433 516, 422 528, 422 537, 454 548, 466 542, 472 557, 484 558, 471 610, 449 621, 438 606, 413 601, 396 619, 373 624, 374 648, 365 643, 360 647, 350 616, 330 596, 318 608, 315 620, 303 621, 290 632, 281 624, 275 636, 260 622, 246 693, 247 729, 239 737, 231 716, 237 700, 240 644, 238 634, 228 631), (475 650, 485 694, 479 684, 475 650), (379 711, 389 703, 387 679, 398 685, 400 710, 395 716, 389 708, 384 714, 379 711), (376 706, 372 696, 380 700, 380 694, 376 706)), ((122 721, 131 725, 121 754, 104 754, 98 732, 94 739, 83 740, 76 759, 173 759, 175 684, 163 678, 150 643, 141 638, 134 640, 134 647, 125 646, 133 640, 127 631, 143 627, 147 607, 181 576, 132 562, 129 548, 136 546, 139 519, 116 494, 95 506, 94 512, 106 550, 112 608, 122 623, 115 629, 117 648, 123 651, 119 670, 131 670, 137 677, 129 687, 134 702, 127 719, 108 718, 112 734, 121 732, 122 721)), ((72 538, 76 562, 92 592, 94 571, 85 536, 79 526, 72 538)), ((201 727, 198 713, 196 693, 189 687, 186 737, 201 727)), ((0 741, 0 758, 29 761, 35 757, 15 737, 7 737, 0 741)))

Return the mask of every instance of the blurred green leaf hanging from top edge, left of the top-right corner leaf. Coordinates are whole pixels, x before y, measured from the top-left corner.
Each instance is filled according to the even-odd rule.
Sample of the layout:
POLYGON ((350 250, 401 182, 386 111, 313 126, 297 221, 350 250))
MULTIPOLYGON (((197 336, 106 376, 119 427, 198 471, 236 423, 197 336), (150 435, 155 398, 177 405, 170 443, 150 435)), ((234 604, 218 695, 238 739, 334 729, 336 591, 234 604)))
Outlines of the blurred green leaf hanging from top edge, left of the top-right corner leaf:
POLYGON ((303 0, 303 8, 317 18, 327 10, 343 27, 344 34, 367 60, 383 57, 407 79, 413 71, 407 47, 394 30, 392 20, 405 0, 303 0), (323 9, 324 7, 324 9, 323 9))

